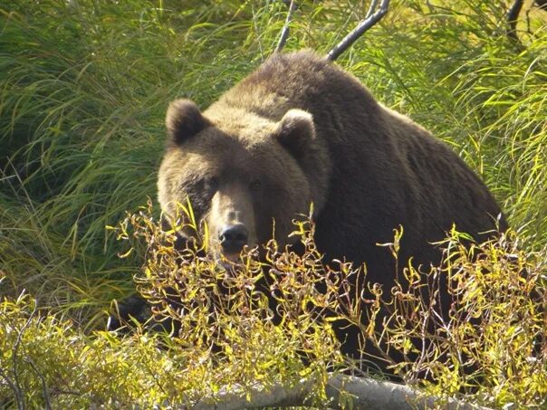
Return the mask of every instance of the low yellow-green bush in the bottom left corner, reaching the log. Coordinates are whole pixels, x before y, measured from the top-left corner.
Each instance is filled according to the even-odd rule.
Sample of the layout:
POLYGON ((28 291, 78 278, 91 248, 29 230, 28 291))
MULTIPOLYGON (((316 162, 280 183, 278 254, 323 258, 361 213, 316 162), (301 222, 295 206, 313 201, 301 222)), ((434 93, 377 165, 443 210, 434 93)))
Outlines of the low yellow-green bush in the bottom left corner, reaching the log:
MULTIPOLYGON (((321 392, 321 366, 304 368, 297 357, 291 357, 293 341, 281 342, 278 332, 258 333, 260 340, 245 338, 250 353, 258 352, 257 343, 264 346, 271 339, 280 340, 260 356, 231 355, 217 363, 217 357, 206 350, 183 348, 160 334, 85 336, 69 321, 37 314, 28 295, 5 300, 0 312, 3 408, 186 407, 214 398, 237 383, 245 387, 268 386, 273 381, 289 384, 297 382, 301 373, 317 377, 321 392), (280 352, 284 359, 276 360, 272 355, 280 352)), ((321 403, 321 397, 316 401, 321 403)))

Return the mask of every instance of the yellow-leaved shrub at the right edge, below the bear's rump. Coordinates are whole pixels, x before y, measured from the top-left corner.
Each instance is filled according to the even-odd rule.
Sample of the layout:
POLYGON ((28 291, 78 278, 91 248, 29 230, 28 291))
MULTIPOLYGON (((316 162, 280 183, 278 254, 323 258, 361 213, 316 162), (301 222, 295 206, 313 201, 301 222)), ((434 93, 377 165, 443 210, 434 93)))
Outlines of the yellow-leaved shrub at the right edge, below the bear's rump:
POLYGON ((513 232, 469 243, 453 230, 439 245, 439 266, 424 273, 409 264, 391 291, 378 343, 402 352, 394 367, 436 396, 466 391, 490 406, 544 405, 545 252, 523 252, 513 232))

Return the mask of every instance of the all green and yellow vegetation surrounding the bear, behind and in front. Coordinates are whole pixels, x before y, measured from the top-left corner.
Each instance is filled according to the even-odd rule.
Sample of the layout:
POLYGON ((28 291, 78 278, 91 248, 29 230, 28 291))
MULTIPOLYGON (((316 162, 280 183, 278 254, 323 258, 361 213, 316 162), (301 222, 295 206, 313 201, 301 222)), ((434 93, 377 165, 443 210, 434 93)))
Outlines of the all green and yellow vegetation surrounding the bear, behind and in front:
MULTIPOLYGON (((369 4, 301 3, 286 49, 322 53, 369 4)), ((416 298, 412 269, 415 287, 370 284, 362 312, 381 305, 408 317, 360 332, 403 357, 421 353, 392 363, 407 383, 496 408, 547 396, 547 12, 531 3, 515 43, 504 2, 392 1, 338 60, 451 145, 514 231, 472 249, 448 233, 432 274, 451 278, 459 307, 436 334, 410 325, 437 320, 435 306, 416 298), (433 342, 416 343, 422 337, 433 342)), ((302 378, 317 383, 311 400, 324 404, 328 373, 355 367, 339 354, 330 319, 360 322, 335 290, 365 273, 325 271, 310 226, 295 226, 308 252, 270 243, 266 261, 251 252, 226 277, 200 253, 175 253, 156 206, 139 210, 156 193, 168 101, 205 108, 273 51, 285 14, 279 1, 0 4, 0 407, 192 405, 233 386, 302 378), (279 272, 269 278, 277 317, 259 290, 271 271, 264 263, 279 272), (137 324, 124 338, 101 331, 111 300, 136 287, 178 319, 184 338, 137 324), (191 314, 173 310, 166 292, 191 314)))

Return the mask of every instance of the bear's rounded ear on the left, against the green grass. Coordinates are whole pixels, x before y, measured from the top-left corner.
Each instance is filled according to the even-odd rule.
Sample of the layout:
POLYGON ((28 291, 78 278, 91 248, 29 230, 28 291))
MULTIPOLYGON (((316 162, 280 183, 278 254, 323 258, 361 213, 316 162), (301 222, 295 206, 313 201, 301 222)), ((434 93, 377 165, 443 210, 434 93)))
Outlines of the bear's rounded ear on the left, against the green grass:
POLYGON ((165 125, 169 143, 180 145, 211 124, 201 115, 194 101, 181 99, 169 104, 165 125))

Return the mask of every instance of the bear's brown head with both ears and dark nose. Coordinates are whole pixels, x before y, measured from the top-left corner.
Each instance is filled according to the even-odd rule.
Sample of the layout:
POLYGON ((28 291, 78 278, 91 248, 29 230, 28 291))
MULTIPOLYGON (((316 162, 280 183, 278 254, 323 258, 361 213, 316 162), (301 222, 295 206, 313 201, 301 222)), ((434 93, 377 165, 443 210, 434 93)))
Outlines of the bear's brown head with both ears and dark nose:
POLYGON ((216 257, 234 261, 245 245, 272 237, 287 244, 293 220, 312 203, 321 206, 325 188, 314 175, 321 173, 313 170, 318 149, 308 112, 287 110, 275 120, 235 108, 202 113, 190 100, 175 100, 166 126, 159 204, 172 220, 189 200, 216 257))

